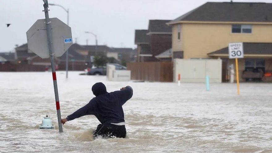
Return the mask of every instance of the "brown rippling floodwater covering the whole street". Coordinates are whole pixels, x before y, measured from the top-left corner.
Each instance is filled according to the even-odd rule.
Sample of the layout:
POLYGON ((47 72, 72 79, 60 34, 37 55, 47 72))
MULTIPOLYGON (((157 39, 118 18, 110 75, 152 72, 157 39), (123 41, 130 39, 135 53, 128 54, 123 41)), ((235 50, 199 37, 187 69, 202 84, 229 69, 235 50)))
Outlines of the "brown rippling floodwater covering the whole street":
POLYGON ((94 97, 127 85, 133 97, 123 105, 127 138, 92 139, 99 121, 84 116, 57 126, 51 72, 0 73, 0 152, 188 152, 271 153, 272 84, 108 82, 105 76, 57 72, 62 118, 94 97), (56 129, 38 129, 49 115, 56 129))

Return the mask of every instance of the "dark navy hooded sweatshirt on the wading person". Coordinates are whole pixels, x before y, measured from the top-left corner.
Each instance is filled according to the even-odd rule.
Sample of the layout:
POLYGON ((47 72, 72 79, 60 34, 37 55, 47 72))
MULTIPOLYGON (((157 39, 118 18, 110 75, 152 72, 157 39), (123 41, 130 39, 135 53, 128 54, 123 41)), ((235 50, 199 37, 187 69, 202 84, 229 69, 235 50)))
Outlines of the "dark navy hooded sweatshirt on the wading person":
POLYGON ((92 86, 92 91, 96 97, 67 116, 68 121, 85 115, 95 115, 101 124, 125 122, 122 105, 133 95, 133 89, 130 86, 121 91, 108 93, 103 83, 96 83, 92 86))

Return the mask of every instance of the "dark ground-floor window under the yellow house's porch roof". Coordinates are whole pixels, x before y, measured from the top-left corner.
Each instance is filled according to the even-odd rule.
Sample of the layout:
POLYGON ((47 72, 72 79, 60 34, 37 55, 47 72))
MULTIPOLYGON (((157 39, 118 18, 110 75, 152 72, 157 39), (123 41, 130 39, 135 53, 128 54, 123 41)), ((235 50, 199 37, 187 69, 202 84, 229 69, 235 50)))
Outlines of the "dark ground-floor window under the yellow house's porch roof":
POLYGON ((265 72, 266 60, 263 58, 245 58, 244 64, 247 71, 262 69, 265 72))

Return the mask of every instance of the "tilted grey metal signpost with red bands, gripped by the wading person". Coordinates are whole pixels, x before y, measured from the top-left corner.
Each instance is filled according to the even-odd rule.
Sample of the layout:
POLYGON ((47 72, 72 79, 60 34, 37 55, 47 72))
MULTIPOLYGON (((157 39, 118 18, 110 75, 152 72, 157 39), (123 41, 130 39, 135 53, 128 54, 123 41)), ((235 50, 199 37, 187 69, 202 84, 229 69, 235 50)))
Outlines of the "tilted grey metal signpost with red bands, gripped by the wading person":
POLYGON ((46 22, 46 32, 47 32, 47 39, 48 39, 48 47, 49 47, 49 55, 50 55, 50 62, 51 62, 51 69, 53 75, 53 84, 54 84, 54 92, 55 92, 55 100, 56 100, 56 108, 57 108, 57 120, 58 120, 58 128, 59 132, 63 132, 62 130, 62 117, 61 117, 61 110, 59 105, 59 98, 58 98, 58 91, 57 91, 57 76, 56 76, 56 69, 55 69, 55 62, 54 62, 54 53, 53 53, 53 45, 52 45, 52 35, 51 35, 51 25, 49 21, 48 15, 48 7, 44 4, 45 8, 45 22, 46 22))

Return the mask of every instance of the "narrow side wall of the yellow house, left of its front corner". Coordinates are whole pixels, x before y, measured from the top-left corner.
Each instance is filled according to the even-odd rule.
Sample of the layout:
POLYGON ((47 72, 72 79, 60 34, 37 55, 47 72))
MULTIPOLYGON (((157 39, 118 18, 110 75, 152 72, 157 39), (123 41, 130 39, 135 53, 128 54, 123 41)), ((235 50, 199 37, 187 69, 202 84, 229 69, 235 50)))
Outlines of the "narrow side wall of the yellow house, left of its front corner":
POLYGON ((181 25, 180 40, 178 40, 178 24, 175 24, 172 27, 172 50, 173 50, 173 52, 183 50, 182 24, 180 24, 180 25, 181 25))

